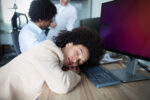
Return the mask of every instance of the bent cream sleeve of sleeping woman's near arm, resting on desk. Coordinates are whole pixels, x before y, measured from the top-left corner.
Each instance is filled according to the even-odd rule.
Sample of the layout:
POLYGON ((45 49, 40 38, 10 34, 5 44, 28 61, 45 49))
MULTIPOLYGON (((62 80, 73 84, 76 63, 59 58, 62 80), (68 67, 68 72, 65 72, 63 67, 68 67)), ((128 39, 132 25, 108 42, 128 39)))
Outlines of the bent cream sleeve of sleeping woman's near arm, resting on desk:
POLYGON ((52 64, 51 68, 51 76, 48 77, 46 83, 55 93, 68 93, 81 80, 81 77, 78 74, 73 71, 63 71, 57 63, 52 64))

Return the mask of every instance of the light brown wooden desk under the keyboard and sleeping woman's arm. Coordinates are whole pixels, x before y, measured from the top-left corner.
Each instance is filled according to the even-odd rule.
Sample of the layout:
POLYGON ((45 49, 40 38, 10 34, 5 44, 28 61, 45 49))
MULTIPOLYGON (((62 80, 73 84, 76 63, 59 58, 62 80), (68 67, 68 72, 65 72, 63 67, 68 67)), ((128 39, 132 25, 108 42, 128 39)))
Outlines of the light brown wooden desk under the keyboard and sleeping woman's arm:
MULTIPOLYGON (((125 67, 122 63, 104 65, 107 69, 125 67)), ((150 76, 150 73, 141 71, 150 76)), ((84 74, 75 89, 68 94, 53 93, 45 85, 39 100, 150 100, 150 80, 121 83, 119 85, 96 88, 84 74)))

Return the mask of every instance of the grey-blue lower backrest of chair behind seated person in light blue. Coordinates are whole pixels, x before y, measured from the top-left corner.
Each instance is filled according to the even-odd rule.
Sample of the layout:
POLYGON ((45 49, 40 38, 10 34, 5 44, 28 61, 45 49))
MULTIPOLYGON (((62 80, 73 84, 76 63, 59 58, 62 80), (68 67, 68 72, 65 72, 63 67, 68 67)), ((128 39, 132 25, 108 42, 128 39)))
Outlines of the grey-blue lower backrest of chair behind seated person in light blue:
POLYGON ((17 55, 19 55, 21 53, 20 47, 19 47, 19 41, 18 41, 19 32, 20 31, 12 31, 11 32, 14 49, 15 49, 17 55))

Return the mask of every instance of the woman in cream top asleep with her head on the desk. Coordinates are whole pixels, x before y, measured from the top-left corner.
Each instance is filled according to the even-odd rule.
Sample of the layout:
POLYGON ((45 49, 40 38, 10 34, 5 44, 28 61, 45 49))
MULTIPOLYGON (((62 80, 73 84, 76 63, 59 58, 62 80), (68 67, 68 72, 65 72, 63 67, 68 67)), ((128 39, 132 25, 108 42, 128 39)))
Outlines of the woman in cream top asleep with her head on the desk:
POLYGON ((45 40, 0 68, 0 100, 37 100, 45 84, 55 93, 68 93, 81 80, 79 68, 98 65, 102 55, 97 32, 63 31, 55 43, 45 40))

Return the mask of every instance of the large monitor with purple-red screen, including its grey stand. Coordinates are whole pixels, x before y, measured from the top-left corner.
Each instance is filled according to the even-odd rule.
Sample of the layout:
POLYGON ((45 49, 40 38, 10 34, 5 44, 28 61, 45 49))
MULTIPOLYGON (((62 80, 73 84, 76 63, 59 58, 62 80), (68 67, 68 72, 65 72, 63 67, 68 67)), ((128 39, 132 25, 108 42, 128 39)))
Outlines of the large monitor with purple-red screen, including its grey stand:
MULTIPOLYGON (((100 37, 105 49, 150 60, 150 0, 114 0, 102 4, 100 37)), ((136 72, 137 60, 113 70, 123 82, 148 79, 136 72)))

